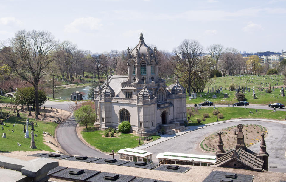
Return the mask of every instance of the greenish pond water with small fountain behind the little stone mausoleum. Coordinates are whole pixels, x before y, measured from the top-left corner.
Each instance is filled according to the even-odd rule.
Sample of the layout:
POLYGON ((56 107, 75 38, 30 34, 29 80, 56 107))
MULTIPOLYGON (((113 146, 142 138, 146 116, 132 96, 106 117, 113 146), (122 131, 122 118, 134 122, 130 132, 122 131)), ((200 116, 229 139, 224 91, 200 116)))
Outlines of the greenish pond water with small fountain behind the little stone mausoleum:
MULTIPOLYGON (((83 87, 77 87, 77 88, 70 88, 70 89, 62 89, 62 90, 58 90, 59 93, 55 93, 55 98, 61 98, 63 100, 70 100, 71 98, 71 93, 75 92, 75 91, 79 91, 79 92, 83 92, 86 95, 83 95, 84 99, 91 99, 91 98, 87 98, 88 95, 88 90, 89 90, 89 86, 83 86, 83 87)), ((48 97, 52 97, 52 94, 47 94, 48 97)))

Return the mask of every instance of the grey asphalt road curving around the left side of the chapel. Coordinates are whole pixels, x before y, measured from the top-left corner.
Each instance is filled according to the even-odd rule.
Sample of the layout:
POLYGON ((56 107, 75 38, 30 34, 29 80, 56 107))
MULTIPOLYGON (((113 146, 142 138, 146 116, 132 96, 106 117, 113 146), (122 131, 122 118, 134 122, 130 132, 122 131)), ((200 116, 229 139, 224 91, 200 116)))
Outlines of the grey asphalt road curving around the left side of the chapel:
MULTIPOLYGON (((63 109, 71 112, 67 102, 52 102, 47 101, 43 106, 63 109)), ((57 128, 57 141, 60 146, 71 155, 84 155, 89 157, 110 158, 111 155, 99 152, 86 146, 78 137, 76 132, 77 121, 74 117, 65 120, 57 128)), ((118 156, 114 156, 118 158, 118 156)))

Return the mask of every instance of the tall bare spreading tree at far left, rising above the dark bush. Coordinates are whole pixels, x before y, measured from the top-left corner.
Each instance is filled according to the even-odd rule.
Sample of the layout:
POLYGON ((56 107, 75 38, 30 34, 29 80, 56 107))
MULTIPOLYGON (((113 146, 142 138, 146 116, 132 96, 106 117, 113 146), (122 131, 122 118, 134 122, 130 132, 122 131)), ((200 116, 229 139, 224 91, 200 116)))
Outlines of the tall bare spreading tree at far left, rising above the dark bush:
MULTIPOLYGON (((20 30, 10 39, 11 47, 1 49, 2 60, 35 90, 36 113, 39 114, 38 84, 47 75, 45 71, 53 61, 52 52, 57 47, 52 33, 20 30)), ((38 119, 36 115, 36 119, 38 119)))

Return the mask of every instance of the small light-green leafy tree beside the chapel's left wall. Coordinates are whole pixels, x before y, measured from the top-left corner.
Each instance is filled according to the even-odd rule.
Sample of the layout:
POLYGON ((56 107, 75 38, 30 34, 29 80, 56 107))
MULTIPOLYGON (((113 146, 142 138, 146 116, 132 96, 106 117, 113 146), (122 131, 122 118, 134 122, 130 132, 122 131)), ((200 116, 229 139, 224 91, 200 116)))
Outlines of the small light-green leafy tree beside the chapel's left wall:
POLYGON ((87 125, 92 124, 97 118, 94 109, 89 105, 81 106, 79 109, 74 111, 74 117, 77 122, 86 126, 86 129, 87 125))

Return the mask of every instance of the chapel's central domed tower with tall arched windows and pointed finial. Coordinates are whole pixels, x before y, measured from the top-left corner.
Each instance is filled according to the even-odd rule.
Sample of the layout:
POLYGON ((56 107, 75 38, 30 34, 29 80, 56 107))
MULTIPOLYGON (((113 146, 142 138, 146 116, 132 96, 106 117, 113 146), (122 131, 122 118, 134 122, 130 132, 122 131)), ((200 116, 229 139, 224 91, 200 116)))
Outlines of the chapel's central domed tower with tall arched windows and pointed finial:
POLYGON ((140 34, 139 43, 130 52, 128 47, 128 79, 126 84, 157 82, 158 81, 158 58, 157 48, 152 50, 148 47, 143 38, 143 34, 140 34))

